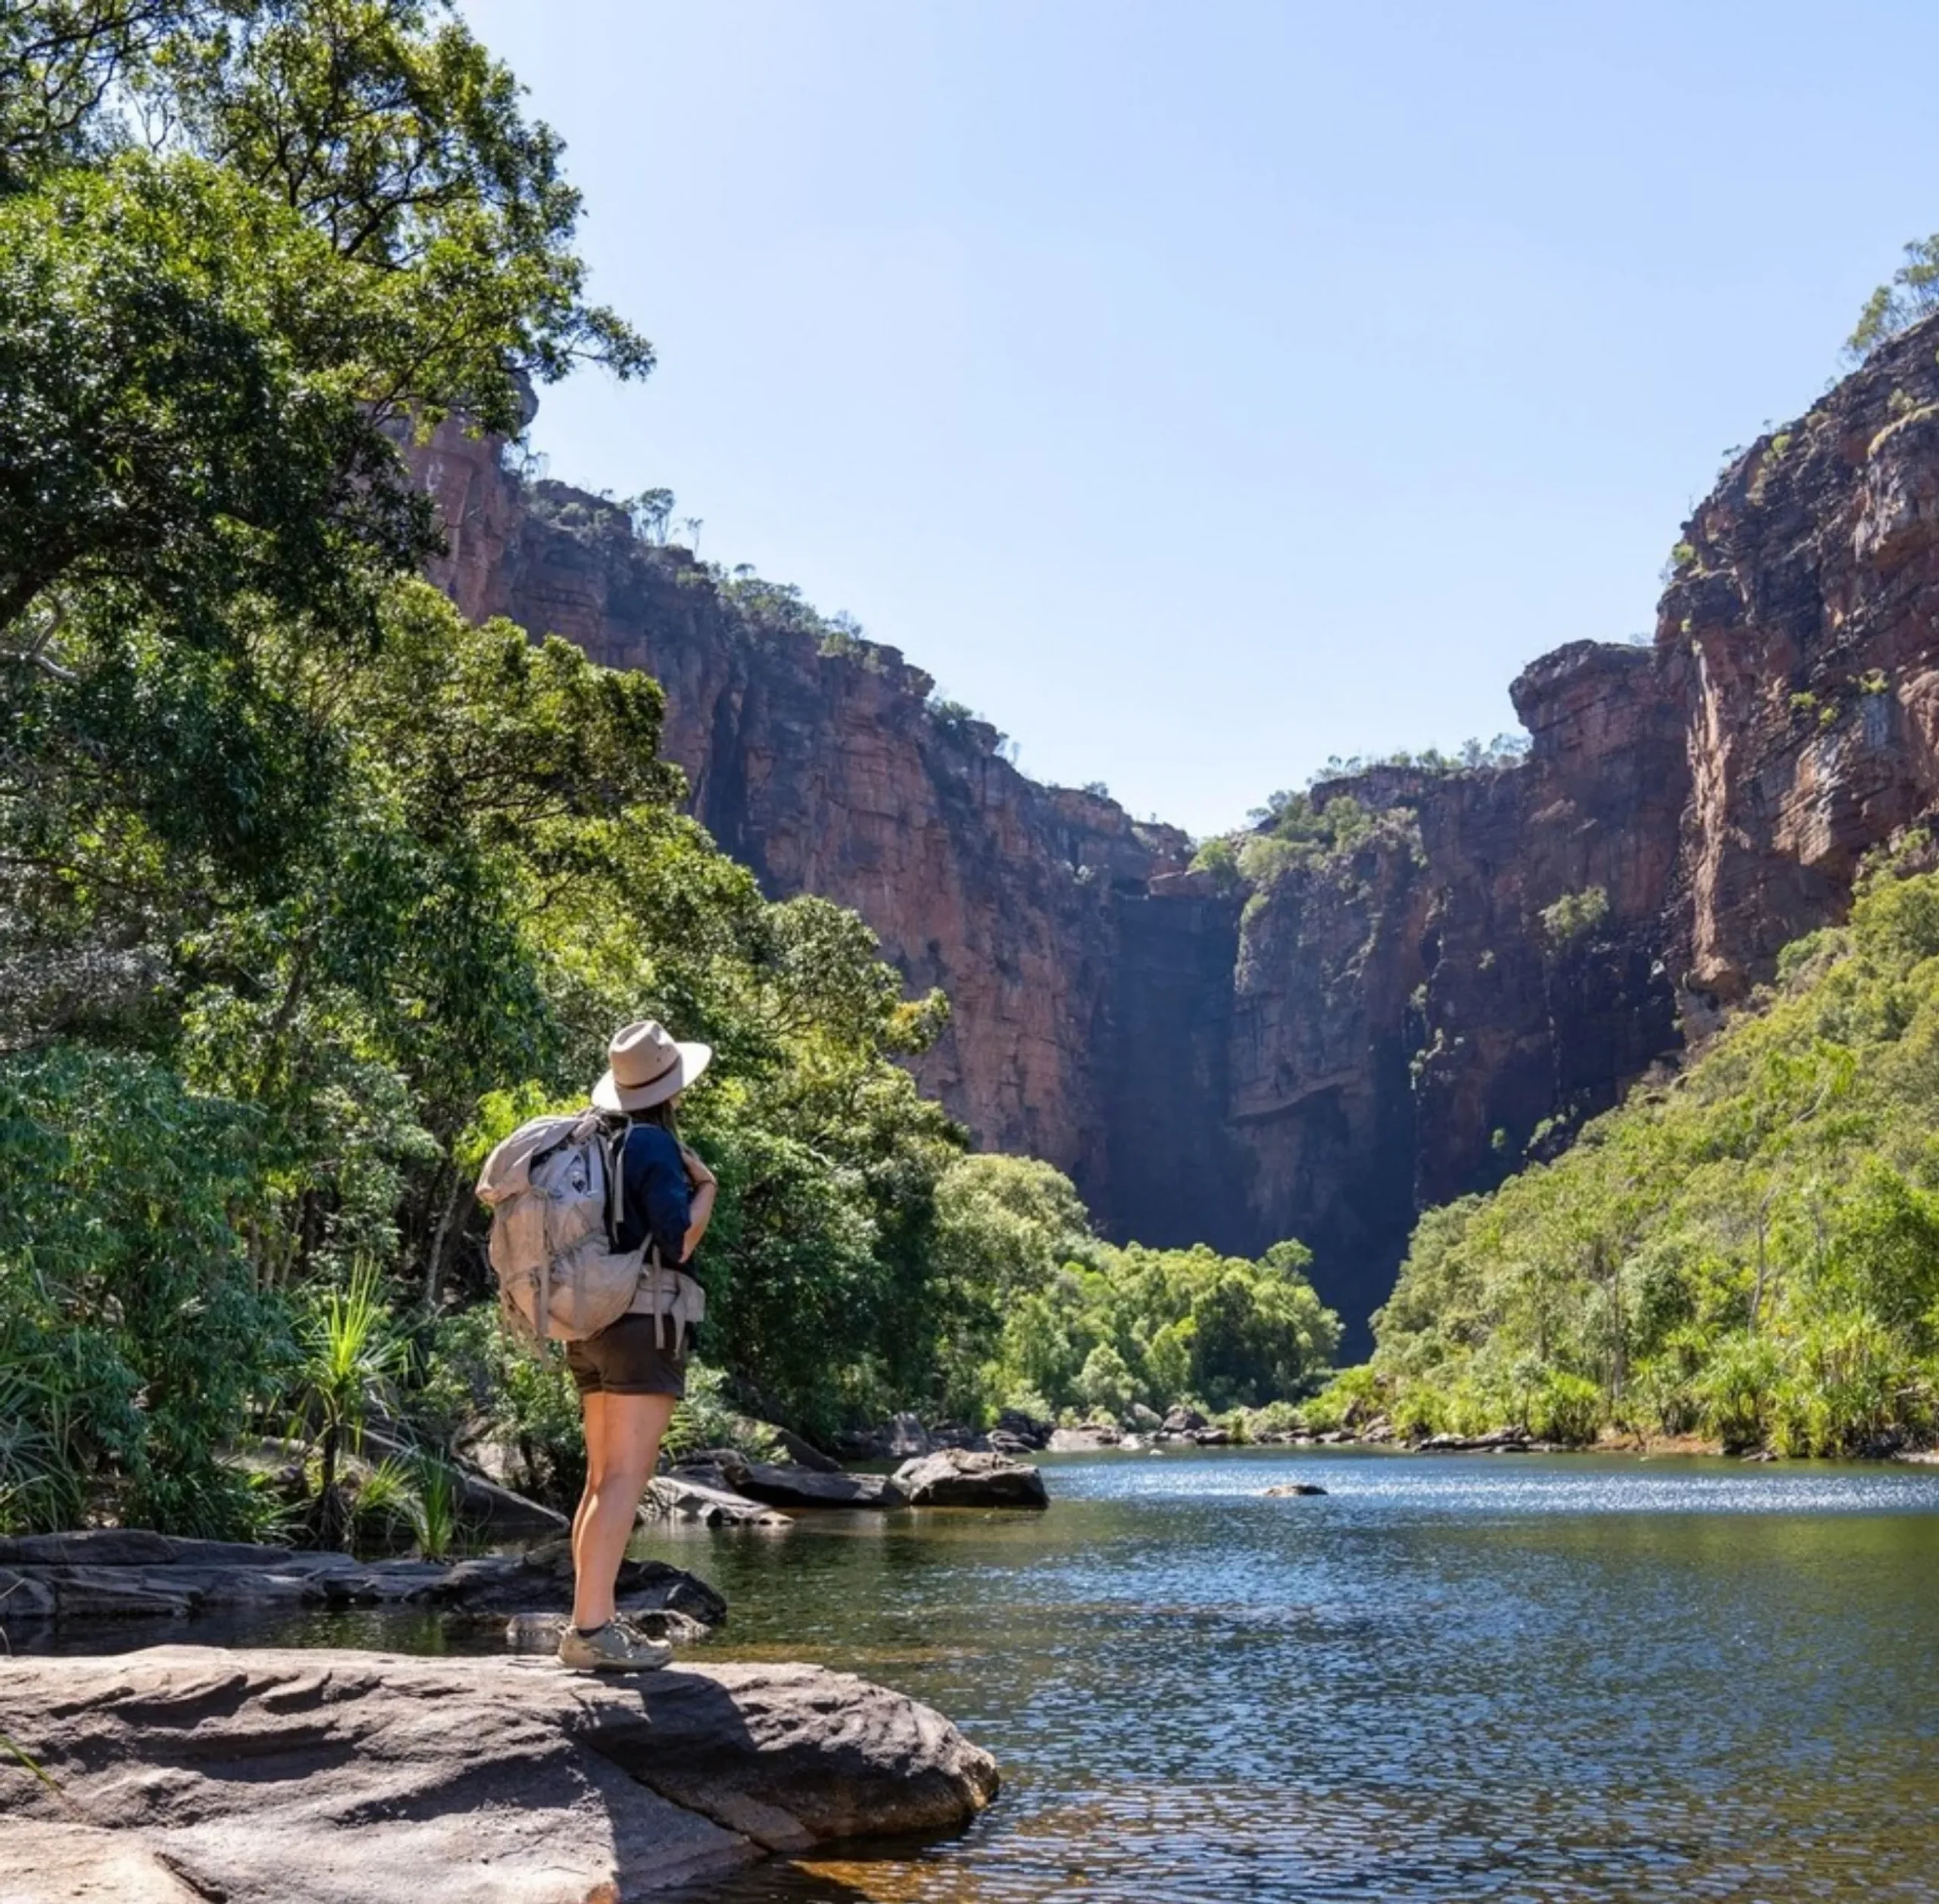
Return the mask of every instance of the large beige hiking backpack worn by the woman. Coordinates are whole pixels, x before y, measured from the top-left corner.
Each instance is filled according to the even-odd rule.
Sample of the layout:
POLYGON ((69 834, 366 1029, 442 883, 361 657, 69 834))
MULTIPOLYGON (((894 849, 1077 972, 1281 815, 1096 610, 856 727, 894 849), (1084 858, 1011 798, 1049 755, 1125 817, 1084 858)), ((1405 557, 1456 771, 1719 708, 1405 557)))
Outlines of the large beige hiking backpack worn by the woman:
POLYGON ((597 1111, 535 1117, 520 1125, 479 1171, 479 1202, 491 1206, 491 1266, 498 1307, 520 1336, 584 1342, 628 1311, 671 1324, 679 1348, 702 1320, 706 1299, 681 1270, 648 1249, 619 1253, 620 1150, 626 1127, 597 1111))

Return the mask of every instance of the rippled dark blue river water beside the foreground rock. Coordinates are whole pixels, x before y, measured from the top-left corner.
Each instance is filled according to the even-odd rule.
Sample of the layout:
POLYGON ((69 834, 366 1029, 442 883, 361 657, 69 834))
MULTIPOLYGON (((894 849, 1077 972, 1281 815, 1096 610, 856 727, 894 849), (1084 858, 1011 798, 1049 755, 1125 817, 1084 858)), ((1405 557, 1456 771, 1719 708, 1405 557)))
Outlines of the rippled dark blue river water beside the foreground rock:
POLYGON ((1047 1468, 1041 1516, 704 1538, 721 1654, 902 1687, 1004 1772, 954 1842, 712 1898, 1939 1898, 1935 1470, 1047 1468))

